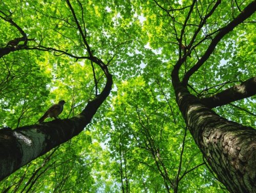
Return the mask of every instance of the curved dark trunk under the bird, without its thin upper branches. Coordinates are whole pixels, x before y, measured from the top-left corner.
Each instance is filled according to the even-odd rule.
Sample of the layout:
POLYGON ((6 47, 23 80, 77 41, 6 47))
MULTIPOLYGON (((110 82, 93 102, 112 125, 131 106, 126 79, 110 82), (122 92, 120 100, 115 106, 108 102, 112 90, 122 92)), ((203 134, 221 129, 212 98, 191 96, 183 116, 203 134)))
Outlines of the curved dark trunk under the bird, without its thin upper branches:
POLYGON ((90 123, 97 109, 108 97, 113 83, 112 76, 103 62, 95 57, 91 60, 104 71, 106 84, 103 91, 89 102, 78 116, 20 127, 15 130, 0 130, 0 180, 31 160, 78 135, 90 123))

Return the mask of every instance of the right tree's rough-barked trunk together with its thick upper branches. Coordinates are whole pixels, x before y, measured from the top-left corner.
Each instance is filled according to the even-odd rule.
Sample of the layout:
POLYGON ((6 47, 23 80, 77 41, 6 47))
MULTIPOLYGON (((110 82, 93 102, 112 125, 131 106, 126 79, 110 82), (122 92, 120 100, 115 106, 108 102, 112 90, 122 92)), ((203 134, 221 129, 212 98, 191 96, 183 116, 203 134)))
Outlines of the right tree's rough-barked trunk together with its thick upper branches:
MULTIPOLYGON (((234 27, 250 17, 255 9, 256 1, 253 1, 227 26, 223 27, 212 39, 205 54, 188 70, 182 82, 179 79, 179 69, 186 57, 182 57, 172 71, 176 101, 187 127, 212 170, 230 192, 244 193, 256 190, 256 130, 230 122, 217 115, 208 108, 213 107, 210 103, 214 99, 207 99, 208 101, 205 99, 203 104, 200 99, 189 93, 186 86, 189 77, 209 58, 218 42, 234 27)), ((246 90, 249 90, 251 94, 255 92, 254 79, 244 82, 241 86, 244 88, 245 85, 246 90), (246 85, 249 82, 250 84, 246 85)), ((227 103, 228 98, 231 100, 242 98, 240 90, 234 88, 221 92, 217 96, 219 99, 215 99, 215 105, 227 103), (232 95, 234 92, 236 96, 232 95)))

